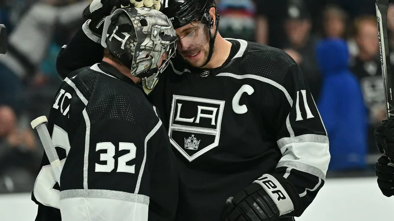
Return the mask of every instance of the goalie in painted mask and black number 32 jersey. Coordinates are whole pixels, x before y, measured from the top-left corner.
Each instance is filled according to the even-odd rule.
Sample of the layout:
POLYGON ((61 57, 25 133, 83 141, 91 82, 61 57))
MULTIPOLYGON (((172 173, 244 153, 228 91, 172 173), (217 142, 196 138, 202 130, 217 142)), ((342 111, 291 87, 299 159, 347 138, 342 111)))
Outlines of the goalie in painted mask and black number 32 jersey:
POLYGON ((54 99, 48 130, 63 170, 59 187, 43 157, 36 221, 174 220, 175 160, 139 82, 152 89, 175 53, 175 31, 163 13, 131 7, 107 17, 104 32, 101 63, 67 75, 54 99))

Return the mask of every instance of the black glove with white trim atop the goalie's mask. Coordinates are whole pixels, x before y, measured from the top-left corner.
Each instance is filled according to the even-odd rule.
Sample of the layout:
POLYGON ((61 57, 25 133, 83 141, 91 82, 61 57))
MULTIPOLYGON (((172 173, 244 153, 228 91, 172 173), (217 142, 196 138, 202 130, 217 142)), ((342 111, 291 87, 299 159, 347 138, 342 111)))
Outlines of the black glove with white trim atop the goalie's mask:
POLYGON ((105 17, 111 14, 114 7, 121 8, 130 5, 130 0, 93 0, 83 11, 82 16, 89 19, 89 29, 101 37, 105 17))

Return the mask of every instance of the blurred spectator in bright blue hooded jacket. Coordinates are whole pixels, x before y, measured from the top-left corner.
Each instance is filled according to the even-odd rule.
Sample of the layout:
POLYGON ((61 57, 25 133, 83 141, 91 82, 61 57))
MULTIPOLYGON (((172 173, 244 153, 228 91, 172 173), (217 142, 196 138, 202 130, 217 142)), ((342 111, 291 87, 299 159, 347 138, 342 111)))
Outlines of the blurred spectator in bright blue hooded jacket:
POLYGON ((354 170, 366 166, 367 111, 360 83, 349 70, 345 41, 327 39, 316 48, 323 74, 318 109, 330 142, 329 170, 354 170))

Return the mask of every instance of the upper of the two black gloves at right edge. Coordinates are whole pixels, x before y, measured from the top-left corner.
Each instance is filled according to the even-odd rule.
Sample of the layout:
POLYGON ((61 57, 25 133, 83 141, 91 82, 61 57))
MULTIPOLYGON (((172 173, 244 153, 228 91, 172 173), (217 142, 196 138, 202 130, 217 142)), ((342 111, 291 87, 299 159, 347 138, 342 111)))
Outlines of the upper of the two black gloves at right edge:
POLYGON ((394 159, 394 119, 384 120, 375 130, 376 145, 380 153, 394 159))

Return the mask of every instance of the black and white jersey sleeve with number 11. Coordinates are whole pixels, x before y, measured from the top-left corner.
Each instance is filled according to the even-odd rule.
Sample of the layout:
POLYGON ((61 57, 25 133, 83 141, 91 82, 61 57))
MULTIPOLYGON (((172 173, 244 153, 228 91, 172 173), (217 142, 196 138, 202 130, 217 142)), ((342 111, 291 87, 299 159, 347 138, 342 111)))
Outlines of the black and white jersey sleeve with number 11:
POLYGON ((275 173, 290 181, 301 200, 300 216, 325 182, 330 154, 328 137, 309 87, 294 63, 284 76, 278 100, 277 144, 282 157, 275 173))

